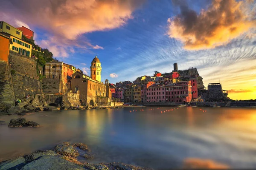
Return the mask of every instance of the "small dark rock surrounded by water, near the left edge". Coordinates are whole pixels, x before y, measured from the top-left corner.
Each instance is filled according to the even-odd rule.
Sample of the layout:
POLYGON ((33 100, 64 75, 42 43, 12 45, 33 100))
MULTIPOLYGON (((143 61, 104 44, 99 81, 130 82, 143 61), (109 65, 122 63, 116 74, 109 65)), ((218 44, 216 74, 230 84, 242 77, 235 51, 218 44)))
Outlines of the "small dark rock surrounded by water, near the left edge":
POLYGON ((40 125, 36 122, 28 121, 25 118, 12 119, 8 127, 39 127, 40 125))

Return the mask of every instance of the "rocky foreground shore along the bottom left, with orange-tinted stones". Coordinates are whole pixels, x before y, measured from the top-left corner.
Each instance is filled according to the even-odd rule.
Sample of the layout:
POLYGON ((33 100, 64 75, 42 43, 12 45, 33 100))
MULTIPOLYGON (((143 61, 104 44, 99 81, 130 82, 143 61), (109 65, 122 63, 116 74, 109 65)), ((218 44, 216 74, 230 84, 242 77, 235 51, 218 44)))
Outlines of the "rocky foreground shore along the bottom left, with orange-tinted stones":
POLYGON ((149 170, 124 163, 89 164, 94 155, 86 144, 63 142, 51 150, 0 162, 0 170, 149 170))

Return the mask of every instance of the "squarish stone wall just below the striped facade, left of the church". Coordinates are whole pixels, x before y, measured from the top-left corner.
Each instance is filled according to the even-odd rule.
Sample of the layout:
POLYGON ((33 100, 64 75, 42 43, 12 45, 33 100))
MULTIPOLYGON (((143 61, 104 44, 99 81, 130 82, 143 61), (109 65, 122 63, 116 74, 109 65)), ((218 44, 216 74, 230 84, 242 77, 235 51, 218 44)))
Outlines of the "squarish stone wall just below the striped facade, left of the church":
POLYGON ((60 79, 43 79, 42 88, 44 94, 59 94, 60 79))

